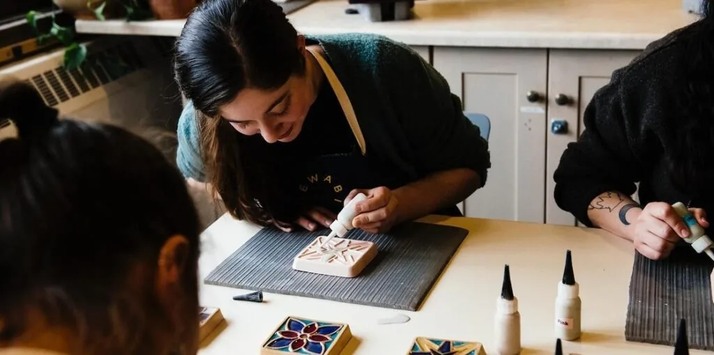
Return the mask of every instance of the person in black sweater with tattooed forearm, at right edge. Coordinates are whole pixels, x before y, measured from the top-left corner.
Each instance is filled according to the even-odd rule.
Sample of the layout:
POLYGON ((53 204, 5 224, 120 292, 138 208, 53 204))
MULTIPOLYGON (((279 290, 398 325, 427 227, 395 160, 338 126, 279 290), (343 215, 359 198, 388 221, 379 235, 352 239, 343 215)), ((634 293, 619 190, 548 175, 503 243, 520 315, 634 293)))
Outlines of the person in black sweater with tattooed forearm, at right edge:
POLYGON ((650 259, 668 257, 689 235, 671 205, 683 202, 705 228, 714 207, 713 3, 613 73, 554 174, 560 208, 650 259))

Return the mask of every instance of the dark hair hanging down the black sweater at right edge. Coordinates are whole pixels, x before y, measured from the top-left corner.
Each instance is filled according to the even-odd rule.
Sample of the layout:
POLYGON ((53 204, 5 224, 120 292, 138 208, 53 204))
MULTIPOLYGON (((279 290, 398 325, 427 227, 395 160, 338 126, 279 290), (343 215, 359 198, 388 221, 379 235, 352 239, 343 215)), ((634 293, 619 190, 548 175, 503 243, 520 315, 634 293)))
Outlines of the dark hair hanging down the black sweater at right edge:
POLYGON ((714 192, 714 0, 703 1, 704 17, 680 41, 675 92, 676 149, 668 157, 672 182, 697 197, 714 192))

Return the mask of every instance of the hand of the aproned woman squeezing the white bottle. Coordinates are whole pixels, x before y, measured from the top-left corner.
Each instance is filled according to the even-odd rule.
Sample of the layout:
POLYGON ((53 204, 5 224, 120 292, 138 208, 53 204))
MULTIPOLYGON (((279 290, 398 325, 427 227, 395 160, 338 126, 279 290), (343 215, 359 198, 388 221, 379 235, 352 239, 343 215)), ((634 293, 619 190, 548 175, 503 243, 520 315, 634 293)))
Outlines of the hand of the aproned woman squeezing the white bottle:
POLYGON ((357 215, 352 220, 352 225, 368 233, 388 232, 397 221, 397 197, 387 187, 352 190, 345 198, 345 205, 360 192, 367 196, 367 200, 356 203, 357 215))

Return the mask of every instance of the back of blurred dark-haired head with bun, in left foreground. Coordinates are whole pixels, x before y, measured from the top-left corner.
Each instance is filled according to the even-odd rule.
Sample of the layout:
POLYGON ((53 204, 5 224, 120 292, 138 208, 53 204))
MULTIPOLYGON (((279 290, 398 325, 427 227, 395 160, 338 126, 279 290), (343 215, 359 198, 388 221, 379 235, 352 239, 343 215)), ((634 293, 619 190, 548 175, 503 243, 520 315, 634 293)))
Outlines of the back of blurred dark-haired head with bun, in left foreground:
POLYGON ((196 354, 198 217, 153 145, 0 85, 0 354, 196 354))

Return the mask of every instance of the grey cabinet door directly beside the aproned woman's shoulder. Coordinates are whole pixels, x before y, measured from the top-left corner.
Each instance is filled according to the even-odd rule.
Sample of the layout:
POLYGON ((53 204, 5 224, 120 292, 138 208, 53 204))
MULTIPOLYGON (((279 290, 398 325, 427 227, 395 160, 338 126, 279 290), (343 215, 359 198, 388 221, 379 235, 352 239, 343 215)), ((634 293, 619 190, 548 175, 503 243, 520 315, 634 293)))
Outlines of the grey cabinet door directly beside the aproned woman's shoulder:
POLYGON ((491 120, 491 170, 468 217, 544 222, 545 49, 434 47, 433 66, 467 112, 491 120))

